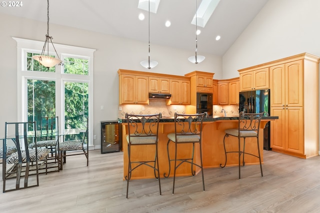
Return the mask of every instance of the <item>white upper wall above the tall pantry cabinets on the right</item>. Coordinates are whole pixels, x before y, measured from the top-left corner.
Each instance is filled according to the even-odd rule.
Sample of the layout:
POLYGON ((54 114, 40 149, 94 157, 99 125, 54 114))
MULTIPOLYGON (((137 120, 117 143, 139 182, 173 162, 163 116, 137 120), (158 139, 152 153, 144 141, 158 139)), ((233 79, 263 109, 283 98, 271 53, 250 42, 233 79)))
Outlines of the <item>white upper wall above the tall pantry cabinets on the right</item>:
POLYGON ((308 52, 320 56, 320 0, 268 0, 223 55, 223 79, 238 69, 308 52))

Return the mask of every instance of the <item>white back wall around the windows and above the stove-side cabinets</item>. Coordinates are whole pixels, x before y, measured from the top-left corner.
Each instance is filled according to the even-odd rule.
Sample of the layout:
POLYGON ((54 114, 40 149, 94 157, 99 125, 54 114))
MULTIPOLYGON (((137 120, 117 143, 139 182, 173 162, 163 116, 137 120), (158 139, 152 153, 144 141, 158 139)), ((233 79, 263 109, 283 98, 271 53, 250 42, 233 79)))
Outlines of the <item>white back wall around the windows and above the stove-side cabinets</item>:
MULTIPOLYGON (((11 37, 43 40, 46 22, 22 19, 0 14, 0 138, 4 136, 4 122, 17 121, 17 53, 16 42, 11 37), (3 21, 5 20, 5 21, 3 21)), ((140 42, 111 35, 50 24, 53 43, 96 49, 94 52, 94 145, 100 144, 100 121, 116 120, 118 116, 118 69, 130 69, 164 74, 184 75, 194 70, 214 72, 214 78, 222 77, 222 59, 205 54, 199 64, 191 64, 187 58, 193 51, 183 51, 151 44, 151 59, 158 65, 148 70, 140 65, 147 59, 147 41, 140 42), (100 106, 104 110, 100 110, 100 106)), ((58 51, 58 50, 57 50, 58 51)))

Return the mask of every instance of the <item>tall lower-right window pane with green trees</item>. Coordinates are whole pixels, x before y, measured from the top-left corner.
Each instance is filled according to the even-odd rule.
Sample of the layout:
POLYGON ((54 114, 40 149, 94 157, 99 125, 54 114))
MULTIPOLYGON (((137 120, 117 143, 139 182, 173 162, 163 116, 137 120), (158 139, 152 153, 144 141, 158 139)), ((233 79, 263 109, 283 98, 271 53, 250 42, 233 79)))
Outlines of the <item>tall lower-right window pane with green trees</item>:
POLYGON ((88 117, 88 84, 79 82, 64 83, 64 140, 81 140, 79 130, 86 129, 88 117))

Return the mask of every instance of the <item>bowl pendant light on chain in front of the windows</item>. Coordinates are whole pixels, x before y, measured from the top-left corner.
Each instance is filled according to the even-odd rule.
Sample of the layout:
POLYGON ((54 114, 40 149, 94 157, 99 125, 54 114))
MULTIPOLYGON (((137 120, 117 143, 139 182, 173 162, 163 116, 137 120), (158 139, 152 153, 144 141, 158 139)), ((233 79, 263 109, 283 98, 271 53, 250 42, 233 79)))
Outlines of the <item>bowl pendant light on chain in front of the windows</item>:
POLYGON ((58 58, 49 56, 49 40, 53 46, 52 37, 49 36, 49 0, 47 0, 47 34, 45 35, 45 42, 44 42, 41 54, 40 55, 33 55, 32 58, 34 60, 38 61, 41 65, 47 67, 48 69, 49 69, 49 67, 55 66, 56 64, 63 65, 54 46, 53 46, 53 49, 54 49, 55 54, 58 58), (46 54, 45 54, 45 48, 47 50, 46 54))

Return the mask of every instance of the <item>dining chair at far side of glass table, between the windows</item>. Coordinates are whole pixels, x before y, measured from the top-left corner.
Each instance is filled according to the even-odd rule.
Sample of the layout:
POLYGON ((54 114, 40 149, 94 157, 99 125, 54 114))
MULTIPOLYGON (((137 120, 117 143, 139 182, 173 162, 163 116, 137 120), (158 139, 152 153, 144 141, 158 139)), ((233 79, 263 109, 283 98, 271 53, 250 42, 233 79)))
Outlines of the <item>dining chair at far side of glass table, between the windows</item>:
MULTIPOLYGON (((55 151, 59 139, 59 119, 57 116, 41 117, 40 126, 37 127, 39 132, 36 146, 38 148, 47 148, 50 154, 47 159, 47 172, 59 172, 59 156, 55 151)), ((35 144, 29 144, 29 148, 34 148, 35 144)), ((40 172, 42 174, 43 172, 40 172)))

